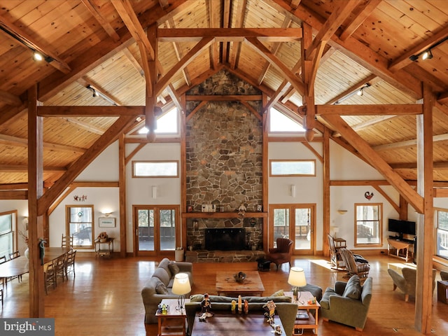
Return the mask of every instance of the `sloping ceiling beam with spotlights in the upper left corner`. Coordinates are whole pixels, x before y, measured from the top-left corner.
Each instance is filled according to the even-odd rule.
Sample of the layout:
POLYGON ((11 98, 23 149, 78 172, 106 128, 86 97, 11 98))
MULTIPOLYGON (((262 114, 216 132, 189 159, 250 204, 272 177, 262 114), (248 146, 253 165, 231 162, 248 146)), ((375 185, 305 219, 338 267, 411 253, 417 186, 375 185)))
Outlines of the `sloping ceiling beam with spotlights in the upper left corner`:
POLYGON ((3 31, 6 36, 14 38, 15 41, 20 42, 25 48, 40 52, 43 57, 51 57, 47 62, 55 69, 62 71, 63 73, 69 73, 71 71, 69 64, 66 64, 62 59, 57 57, 48 47, 41 45, 34 38, 29 36, 26 31, 14 25, 12 21, 4 16, 0 16, 0 30, 3 31))

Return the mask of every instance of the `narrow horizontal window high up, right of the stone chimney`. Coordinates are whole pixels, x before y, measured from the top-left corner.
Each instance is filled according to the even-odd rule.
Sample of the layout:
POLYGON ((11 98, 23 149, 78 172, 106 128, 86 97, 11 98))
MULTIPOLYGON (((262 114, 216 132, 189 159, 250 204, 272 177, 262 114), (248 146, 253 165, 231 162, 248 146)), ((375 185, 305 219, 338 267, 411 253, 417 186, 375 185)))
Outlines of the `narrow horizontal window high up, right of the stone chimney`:
POLYGON ((316 176, 316 160, 269 160, 269 176, 316 176))

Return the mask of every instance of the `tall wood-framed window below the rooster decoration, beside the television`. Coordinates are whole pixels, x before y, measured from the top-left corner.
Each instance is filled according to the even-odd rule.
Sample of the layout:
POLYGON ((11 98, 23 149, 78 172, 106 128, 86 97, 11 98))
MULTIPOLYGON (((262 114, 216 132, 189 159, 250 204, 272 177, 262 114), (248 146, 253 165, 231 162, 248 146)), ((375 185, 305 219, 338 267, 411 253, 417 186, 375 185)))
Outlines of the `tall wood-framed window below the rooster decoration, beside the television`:
POLYGON ((355 204, 355 246, 382 244, 382 204, 355 204))

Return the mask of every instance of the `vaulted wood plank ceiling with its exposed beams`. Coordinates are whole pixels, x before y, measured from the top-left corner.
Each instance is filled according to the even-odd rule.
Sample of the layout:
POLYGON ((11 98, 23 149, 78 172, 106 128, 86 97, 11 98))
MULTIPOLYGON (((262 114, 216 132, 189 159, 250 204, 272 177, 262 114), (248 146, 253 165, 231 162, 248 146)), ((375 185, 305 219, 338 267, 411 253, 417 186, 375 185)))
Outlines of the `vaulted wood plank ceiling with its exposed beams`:
MULTIPOLYGON (((27 188, 27 90, 35 83, 38 99, 48 107, 39 111, 47 113, 43 178, 51 186, 116 121, 110 106, 145 106, 146 90, 154 85, 152 90, 160 91, 157 104, 166 110, 221 69, 257 85, 269 106, 297 120, 302 118, 297 109, 314 99, 316 122, 308 123, 315 137, 330 127, 332 139, 356 153, 325 123, 325 113, 339 113, 409 181, 416 180, 416 113, 422 111, 426 83, 437 97, 433 178, 440 185, 448 181, 446 0, 3 0, 0 5, 0 189, 27 188), (302 25, 313 35, 302 38, 302 25), (146 34, 154 32, 157 44, 151 45, 146 34), (433 57, 423 61, 420 54, 430 47, 433 57), (34 61, 33 50, 51 62, 34 61), (420 57, 413 62, 412 55, 420 57), (157 83, 147 85, 155 70, 157 83), (353 94, 360 87, 363 95, 353 94), (102 95, 94 97, 94 90, 102 95)), ((144 117, 144 108, 132 111, 144 117)))

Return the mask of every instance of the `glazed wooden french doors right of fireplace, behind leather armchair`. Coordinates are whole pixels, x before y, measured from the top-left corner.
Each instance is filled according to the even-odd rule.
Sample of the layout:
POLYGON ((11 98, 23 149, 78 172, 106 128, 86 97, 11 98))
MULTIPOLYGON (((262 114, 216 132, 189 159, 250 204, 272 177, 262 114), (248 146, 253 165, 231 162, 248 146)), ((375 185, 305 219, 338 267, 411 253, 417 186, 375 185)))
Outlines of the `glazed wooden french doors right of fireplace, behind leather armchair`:
POLYGON ((269 206, 269 248, 276 239, 294 241, 294 254, 314 254, 316 204, 272 204, 269 206))

